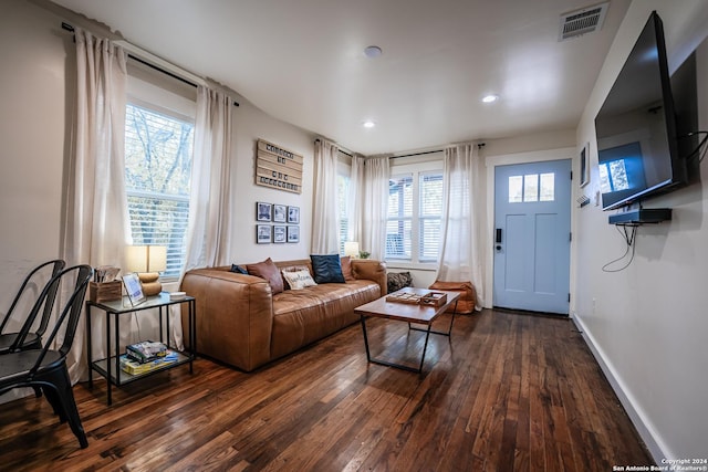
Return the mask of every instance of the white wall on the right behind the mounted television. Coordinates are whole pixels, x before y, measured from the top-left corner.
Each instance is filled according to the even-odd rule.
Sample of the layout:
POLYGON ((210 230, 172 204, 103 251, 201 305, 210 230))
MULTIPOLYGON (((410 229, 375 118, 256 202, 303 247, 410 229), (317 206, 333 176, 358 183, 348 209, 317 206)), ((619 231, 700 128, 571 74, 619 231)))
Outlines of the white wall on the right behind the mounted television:
MULTIPOLYGON (((705 1, 633 1, 577 128, 579 146, 591 143, 591 182, 584 189, 590 197, 598 189, 593 119, 652 10, 664 21, 671 70, 708 35, 705 1)), ((705 42, 697 61, 699 129, 706 129, 705 42)), ((647 208, 673 208, 673 221, 639 228, 634 261, 617 273, 601 269, 625 251, 623 239, 607 223, 608 213, 594 201, 574 210, 575 321, 659 463, 664 458, 705 458, 708 452, 706 164, 701 179, 702 183, 647 201, 647 208)))

